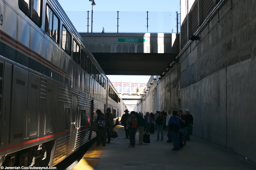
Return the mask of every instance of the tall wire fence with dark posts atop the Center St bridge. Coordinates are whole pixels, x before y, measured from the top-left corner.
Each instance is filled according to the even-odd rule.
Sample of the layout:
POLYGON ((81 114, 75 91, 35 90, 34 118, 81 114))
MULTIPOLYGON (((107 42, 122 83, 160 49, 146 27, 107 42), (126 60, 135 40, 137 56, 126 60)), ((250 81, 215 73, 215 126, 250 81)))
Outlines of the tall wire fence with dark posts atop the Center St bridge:
MULTIPOLYGON (((66 14, 78 32, 91 32, 89 31, 91 30, 91 11, 66 11, 66 14)), ((92 32, 179 33, 180 14, 178 12, 93 11, 92 32)))

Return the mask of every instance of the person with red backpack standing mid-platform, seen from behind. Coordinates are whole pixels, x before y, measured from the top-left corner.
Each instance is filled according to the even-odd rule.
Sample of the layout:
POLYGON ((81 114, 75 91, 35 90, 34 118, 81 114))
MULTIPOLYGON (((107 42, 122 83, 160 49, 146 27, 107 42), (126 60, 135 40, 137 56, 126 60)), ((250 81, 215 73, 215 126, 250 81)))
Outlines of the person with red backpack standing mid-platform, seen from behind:
POLYGON ((131 111, 131 115, 129 118, 127 118, 126 124, 128 124, 128 132, 130 137, 130 145, 128 148, 132 148, 135 147, 135 134, 138 127, 138 120, 135 116, 135 111, 131 111))

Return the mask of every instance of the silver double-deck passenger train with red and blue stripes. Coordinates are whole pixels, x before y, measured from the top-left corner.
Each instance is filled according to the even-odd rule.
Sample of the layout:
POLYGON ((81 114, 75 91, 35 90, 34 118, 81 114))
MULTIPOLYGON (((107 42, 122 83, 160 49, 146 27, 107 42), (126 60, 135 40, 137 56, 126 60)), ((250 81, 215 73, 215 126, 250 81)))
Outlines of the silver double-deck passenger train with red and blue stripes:
POLYGON ((126 106, 57 0, 0 0, 0 166, 54 166, 126 106))

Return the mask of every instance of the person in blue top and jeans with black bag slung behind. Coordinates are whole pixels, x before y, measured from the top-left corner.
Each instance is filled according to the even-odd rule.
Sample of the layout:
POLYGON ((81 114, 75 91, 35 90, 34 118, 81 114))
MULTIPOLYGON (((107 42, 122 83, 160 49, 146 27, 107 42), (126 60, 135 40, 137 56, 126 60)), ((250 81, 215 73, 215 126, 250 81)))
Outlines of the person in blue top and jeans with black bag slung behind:
MULTIPOLYGON (((177 111, 173 111, 173 116, 170 117, 168 122, 168 127, 171 123, 177 124, 179 126, 179 118, 176 116, 177 111)), ((172 134, 172 140, 173 140, 173 151, 180 150, 179 148, 179 131, 174 132, 171 131, 172 134)))

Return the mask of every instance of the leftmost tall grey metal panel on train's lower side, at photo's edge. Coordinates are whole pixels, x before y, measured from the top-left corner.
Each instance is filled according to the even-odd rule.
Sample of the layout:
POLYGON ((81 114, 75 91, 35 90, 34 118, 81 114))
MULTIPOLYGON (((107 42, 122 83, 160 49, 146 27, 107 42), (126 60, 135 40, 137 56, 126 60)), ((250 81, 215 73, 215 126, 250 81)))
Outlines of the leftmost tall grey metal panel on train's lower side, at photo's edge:
POLYGON ((12 88, 12 65, 9 63, 0 63, 1 65, 1 145, 9 143, 10 128, 10 104, 11 104, 11 88, 12 88), (3 75, 3 76, 2 76, 3 75))

